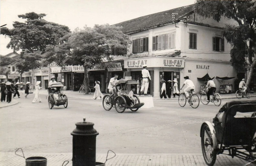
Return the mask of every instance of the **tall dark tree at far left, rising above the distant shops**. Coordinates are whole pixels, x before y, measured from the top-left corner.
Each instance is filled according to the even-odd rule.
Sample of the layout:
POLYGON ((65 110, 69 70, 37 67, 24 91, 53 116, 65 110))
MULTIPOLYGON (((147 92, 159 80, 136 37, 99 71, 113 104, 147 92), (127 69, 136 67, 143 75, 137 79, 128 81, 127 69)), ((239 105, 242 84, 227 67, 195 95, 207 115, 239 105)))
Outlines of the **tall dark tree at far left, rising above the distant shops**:
POLYGON ((13 29, 1 28, 1 34, 11 39, 7 48, 13 51, 22 50, 22 56, 17 59, 16 66, 22 73, 40 67, 40 55, 45 52, 46 47, 59 44, 59 39, 70 33, 67 26, 48 22, 43 19, 44 16, 46 14, 34 12, 18 15, 26 21, 24 23, 15 21, 13 29), (25 62, 26 60, 29 63, 25 62))

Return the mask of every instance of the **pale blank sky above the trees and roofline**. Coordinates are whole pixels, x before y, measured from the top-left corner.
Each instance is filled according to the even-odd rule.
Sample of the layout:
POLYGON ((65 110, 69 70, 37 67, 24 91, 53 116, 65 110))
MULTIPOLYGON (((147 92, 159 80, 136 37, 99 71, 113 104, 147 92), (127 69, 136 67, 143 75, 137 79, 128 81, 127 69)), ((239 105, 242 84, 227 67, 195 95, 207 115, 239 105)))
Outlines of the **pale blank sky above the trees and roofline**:
MULTIPOLYGON (((195 0, 1 0, 0 25, 13 28, 14 21, 23 22, 19 14, 47 14, 44 19, 66 25, 73 31, 84 25, 116 24, 144 15, 191 5, 195 0)), ((6 45, 10 39, 0 35, 0 54, 13 52, 6 45)))

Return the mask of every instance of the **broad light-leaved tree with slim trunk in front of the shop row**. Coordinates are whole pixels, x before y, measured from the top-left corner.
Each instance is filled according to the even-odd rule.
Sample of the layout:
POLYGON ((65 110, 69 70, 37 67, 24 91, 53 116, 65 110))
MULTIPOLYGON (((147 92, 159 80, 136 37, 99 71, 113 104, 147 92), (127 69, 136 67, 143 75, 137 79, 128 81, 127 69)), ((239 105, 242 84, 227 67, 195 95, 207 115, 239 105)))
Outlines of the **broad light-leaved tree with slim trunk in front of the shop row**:
POLYGON ((121 31, 122 27, 95 25, 85 26, 61 38, 61 44, 47 49, 47 61, 56 62, 60 66, 83 65, 85 93, 88 93, 87 69, 104 59, 112 60, 111 55, 125 55, 131 44, 128 35, 121 31))

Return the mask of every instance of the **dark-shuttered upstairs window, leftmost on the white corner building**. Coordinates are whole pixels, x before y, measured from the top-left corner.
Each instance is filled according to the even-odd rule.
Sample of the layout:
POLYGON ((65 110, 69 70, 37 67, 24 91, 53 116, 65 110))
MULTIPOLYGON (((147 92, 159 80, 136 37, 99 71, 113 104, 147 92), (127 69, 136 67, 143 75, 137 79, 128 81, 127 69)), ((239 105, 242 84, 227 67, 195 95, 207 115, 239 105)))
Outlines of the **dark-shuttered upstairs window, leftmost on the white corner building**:
POLYGON ((149 38, 141 38, 133 40, 132 53, 149 51, 149 38))

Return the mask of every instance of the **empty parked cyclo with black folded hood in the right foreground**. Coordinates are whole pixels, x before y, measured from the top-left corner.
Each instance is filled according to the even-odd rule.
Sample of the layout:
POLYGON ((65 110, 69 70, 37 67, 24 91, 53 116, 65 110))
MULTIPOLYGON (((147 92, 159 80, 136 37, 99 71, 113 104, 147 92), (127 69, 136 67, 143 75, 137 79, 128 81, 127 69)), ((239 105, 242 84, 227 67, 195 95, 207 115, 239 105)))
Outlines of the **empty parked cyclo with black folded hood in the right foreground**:
POLYGON ((256 101, 231 101, 222 106, 213 123, 202 124, 201 145, 207 165, 213 166, 217 154, 224 151, 232 158, 256 159, 255 114, 256 101))

